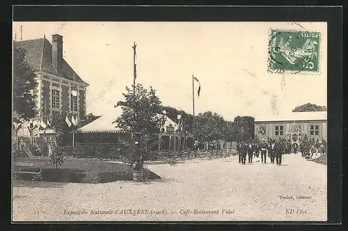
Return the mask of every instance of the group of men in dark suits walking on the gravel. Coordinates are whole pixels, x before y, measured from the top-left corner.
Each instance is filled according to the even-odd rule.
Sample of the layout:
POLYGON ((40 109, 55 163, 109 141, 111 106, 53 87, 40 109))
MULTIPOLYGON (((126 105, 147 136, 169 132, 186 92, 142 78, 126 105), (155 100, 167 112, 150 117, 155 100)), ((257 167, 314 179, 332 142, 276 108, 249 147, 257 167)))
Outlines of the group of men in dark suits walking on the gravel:
POLYGON ((271 160, 271 164, 276 161, 277 165, 282 163, 283 154, 290 154, 291 148, 296 149, 298 145, 291 145, 290 142, 284 141, 282 139, 269 140, 268 143, 262 139, 261 143, 255 143, 253 141, 248 142, 237 142, 237 152, 239 163, 246 164, 246 156, 248 156, 248 163, 253 163, 253 157, 259 157, 261 154, 261 163, 267 163, 267 157, 271 160))

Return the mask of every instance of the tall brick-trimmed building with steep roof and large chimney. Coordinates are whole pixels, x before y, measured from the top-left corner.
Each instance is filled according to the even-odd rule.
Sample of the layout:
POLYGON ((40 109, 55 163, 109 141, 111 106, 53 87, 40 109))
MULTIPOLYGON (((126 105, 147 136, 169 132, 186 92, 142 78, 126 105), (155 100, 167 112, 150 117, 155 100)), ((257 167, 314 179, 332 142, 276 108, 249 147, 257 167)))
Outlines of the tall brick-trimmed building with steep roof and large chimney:
POLYGON ((36 74, 38 86, 33 90, 38 118, 45 120, 57 113, 75 118, 86 116, 86 88, 88 83, 63 58, 63 36, 52 35, 52 43, 45 38, 14 43, 25 51, 24 60, 36 74))

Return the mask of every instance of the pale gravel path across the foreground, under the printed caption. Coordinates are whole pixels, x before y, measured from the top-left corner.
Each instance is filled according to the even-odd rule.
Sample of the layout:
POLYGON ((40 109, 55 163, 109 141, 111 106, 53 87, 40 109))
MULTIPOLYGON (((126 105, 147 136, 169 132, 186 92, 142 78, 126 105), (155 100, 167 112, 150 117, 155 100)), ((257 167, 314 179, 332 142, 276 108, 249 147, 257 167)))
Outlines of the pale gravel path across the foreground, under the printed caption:
POLYGON ((146 183, 16 182, 13 220, 326 221, 326 165, 284 159, 149 165, 162 179, 146 183))

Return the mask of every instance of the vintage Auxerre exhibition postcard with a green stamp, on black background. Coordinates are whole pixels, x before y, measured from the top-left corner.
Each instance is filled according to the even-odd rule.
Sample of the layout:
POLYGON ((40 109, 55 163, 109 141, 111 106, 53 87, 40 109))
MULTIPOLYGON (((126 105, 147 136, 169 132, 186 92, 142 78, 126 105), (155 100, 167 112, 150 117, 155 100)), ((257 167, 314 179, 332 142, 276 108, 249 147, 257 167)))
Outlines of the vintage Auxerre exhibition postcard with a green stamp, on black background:
POLYGON ((327 221, 326 22, 13 22, 13 221, 327 221))

